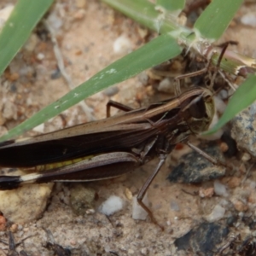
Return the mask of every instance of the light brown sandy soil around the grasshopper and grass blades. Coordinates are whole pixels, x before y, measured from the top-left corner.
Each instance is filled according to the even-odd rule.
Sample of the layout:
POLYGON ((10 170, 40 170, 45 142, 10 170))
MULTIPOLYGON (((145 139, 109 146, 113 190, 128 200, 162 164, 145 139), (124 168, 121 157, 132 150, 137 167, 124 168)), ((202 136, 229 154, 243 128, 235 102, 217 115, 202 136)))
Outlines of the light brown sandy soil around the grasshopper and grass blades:
MULTIPOLYGON (((9 1, 0 3, 0 7, 5 3, 9 1)), ((250 11, 253 12, 253 9, 256 10, 254 4, 250 5, 250 11)), ((238 41, 239 44, 233 46, 234 49, 255 57, 256 52, 253 49, 253 42, 256 41, 256 38, 253 38, 256 37, 255 27, 244 26, 239 22, 239 17, 247 11, 248 7, 241 8, 221 42, 238 41)), ((55 15, 55 22, 61 22, 60 28, 56 29, 56 38, 60 44, 67 73, 76 85, 90 79, 93 74, 122 55, 142 46, 147 40, 145 35, 149 38, 153 36, 132 20, 115 13, 113 9, 99 1, 77 0, 72 3, 57 1, 50 12, 55 15), (126 43, 121 52, 116 53, 113 44, 120 37, 125 38, 126 43)), ((2 115, 0 120, 3 131, 14 127, 70 90, 61 77, 51 79, 57 67, 53 45, 49 39, 43 41, 38 35, 43 37, 44 30, 38 29, 38 33, 33 33, 32 38, 15 57, 1 79, 3 84, 0 91, 0 96, 3 98, 1 105, 3 106, 3 102, 7 101, 11 106, 10 113, 2 115), (20 75, 20 68, 25 70, 24 75, 20 75)), ((100 92, 86 100, 92 109, 93 118, 105 117, 105 105, 109 99, 137 108, 140 102, 147 104, 158 97, 153 97, 157 92, 150 86, 144 86, 141 78, 129 79, 114 86, 112 90, 100 92), (152 99, 149 100, 149 96, 152 96, 152 99)), ((82 108, 75 106, 64 113, 64 120, 57 117, 45 124, 42 131, 54 131, 63 126, 77 125, 90 121, 91 117, 86 115, 82 108)), ((34 134, 37 132, 29 133, 29 135, 34 134)), ((149 219, 146 221, 132 219, 132 203, 125 195, 125 189, 136 195, 156 163, 157 160, 153 160, 131 175, 88 184, 96 191, 98 198, 94 202, 96 209, 94 214, 76 215, 69 205, 70 186, 57 184, 41 218, 29 223, 16 219, 17 225, 9 224, 11 230, 15 231, 16 241, 32 236, 24 241, 18 251, 23 247, 29 255, 54 255, 52 250, 43 247, 43 243, 48 239, 44 231, 47 229, 52 232, 55 242, 69 248, 72 255, 177 255, 173 241, 203 222, 204 217, 212 212, 213 206, 222 198, 212 196, 203 199, 199 195, 193 195, 195 191, 198 192, 203 188, 204 184, 170 183, 166 180, 170 172, 166 165, 148 189, 151 209, 157 221, 166 227, 165 231, 160 230, 149 219), (184 193, 183 190, 191 194, 184 193), (97 207, 110 195, 118 195, 122 198, 125 207, 106 217, 97 212, 97 207)), ((250 180, 253 180, 253 177, 250 177, 250 180)), ((222 182, 228 183, 229 180, 222 182)), ((210 182, 209 187, 212 186, 213 181, 210 182)), ((237 187, 239 184, 229 188, 230 195, 240 193, 237 187), (233 192, 232 189, 239 191, 233 192)), ((250 193, 254 195, 254 192, 250 193)), ((22 214, 21 212, 20 215, 22 214)), ((4 231, 0 235, 3 237, 1 239, 6 237, 4 231)))

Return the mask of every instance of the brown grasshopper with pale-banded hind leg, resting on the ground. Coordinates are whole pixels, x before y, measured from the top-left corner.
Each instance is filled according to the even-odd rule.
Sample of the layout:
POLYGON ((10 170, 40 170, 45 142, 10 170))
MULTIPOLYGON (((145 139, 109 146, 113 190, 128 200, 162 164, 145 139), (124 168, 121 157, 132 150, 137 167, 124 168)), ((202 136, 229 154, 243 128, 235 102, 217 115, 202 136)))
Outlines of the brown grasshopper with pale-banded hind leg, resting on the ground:
POLYGON ((0 143, 1 167, 32 169, 23 176, 0 176, 0 189, 118 177, 157 155, 159 163, 137 195, 138 203, 157 224, 143 204, 143 196, 175 145, 185 142, 190 134, 207 130, 214 114, 212 92, 194 87, 165 102, 134 110, 114 105, 125 113, 0 143))

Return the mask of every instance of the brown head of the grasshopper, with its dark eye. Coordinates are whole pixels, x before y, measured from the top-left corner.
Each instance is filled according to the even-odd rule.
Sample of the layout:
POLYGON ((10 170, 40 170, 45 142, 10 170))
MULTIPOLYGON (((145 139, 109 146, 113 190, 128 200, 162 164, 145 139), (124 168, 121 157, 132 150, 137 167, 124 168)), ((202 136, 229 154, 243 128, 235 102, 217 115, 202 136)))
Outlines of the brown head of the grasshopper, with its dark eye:
POLYGON ((181 105, 189 130, 195 134, 207 131, 215 112, 211 90, 199 87, 188 90, 181 105))

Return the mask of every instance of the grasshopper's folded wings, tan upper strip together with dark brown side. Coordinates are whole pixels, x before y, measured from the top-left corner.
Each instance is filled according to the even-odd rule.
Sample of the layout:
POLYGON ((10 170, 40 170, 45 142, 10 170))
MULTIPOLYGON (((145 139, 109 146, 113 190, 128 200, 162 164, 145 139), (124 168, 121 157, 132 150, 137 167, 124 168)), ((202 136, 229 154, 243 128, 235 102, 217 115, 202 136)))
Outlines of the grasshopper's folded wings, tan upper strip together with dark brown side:
POLYGON ((76 125, 26 140, 2 143, 0 166, 32 167, 91 154, 129 152, 131 148, 147 143, 158 133, 166 132, 160 127, 160 122, 164 123, 165 119, 169 126, 177 126, 180 121, 177 104, 164 112, 160 106, 152 105, 147 111, 144 108, 136 109, 113 118, 76 125), (152 111, 158 108, 160 113, 147 114, 143 118, 145 111, 148 113, 149 109, 152 111))

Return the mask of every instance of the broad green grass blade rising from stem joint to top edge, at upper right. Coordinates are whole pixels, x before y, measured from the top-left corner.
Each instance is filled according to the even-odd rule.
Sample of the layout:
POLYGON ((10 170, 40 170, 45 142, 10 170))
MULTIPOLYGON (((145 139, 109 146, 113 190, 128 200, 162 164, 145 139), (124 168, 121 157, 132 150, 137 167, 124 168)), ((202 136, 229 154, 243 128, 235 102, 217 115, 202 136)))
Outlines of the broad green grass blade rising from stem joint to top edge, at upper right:
POLYGON ((242 2, 243 0, 213 0, 195 21, 194 28, 203 38, 216 41, 229 26, 242 2))

